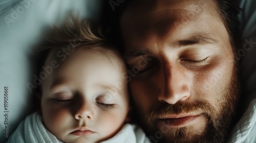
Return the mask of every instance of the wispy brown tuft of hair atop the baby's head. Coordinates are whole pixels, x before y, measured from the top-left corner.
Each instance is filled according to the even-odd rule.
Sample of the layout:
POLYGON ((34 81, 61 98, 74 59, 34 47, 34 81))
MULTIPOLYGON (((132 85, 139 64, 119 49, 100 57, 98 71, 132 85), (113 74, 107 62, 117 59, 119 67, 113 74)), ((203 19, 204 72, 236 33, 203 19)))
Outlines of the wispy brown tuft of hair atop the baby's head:
POLYGON ((89 20, 79 20, 72 16, 60 28, 52 28, 50 36, 39 51, 59 46, 111 46, 109 40, 103 36, 97 23, 89 20), (77 43, 78 42, 78 43, 77 43))

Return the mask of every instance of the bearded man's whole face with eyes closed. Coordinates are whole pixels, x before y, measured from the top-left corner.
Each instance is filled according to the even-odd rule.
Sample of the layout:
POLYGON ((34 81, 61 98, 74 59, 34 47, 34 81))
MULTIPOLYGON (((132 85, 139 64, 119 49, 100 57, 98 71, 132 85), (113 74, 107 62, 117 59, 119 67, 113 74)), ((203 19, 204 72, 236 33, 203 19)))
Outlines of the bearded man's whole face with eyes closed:
POLYGON ((120 20, 130 90, 151 141, 223 141, 238 84, 211 1, 139 1, 120 20))

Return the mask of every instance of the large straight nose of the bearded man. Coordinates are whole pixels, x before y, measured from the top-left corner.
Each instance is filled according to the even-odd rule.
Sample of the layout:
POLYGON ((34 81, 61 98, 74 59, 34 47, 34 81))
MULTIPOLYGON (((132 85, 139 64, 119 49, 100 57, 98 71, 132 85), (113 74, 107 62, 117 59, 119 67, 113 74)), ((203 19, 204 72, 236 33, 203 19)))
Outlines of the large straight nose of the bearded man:
POLYGON ((184 67, 178 64, 165 64, 162 67, 162 84, 158 100, 168 104, 186 100, 190 96, 190 89, 184 67))

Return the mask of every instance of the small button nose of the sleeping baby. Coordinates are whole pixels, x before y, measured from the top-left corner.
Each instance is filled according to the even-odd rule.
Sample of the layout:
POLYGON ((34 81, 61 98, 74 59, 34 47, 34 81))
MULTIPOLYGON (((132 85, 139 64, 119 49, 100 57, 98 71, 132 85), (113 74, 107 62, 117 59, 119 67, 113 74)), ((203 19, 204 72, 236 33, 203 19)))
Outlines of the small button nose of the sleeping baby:
POLYGON ((83 119, 90 121, 94 119, 95 113, 96 109, 93 104, 82 102, 75 113, 75 118, 77 120, 83 119))

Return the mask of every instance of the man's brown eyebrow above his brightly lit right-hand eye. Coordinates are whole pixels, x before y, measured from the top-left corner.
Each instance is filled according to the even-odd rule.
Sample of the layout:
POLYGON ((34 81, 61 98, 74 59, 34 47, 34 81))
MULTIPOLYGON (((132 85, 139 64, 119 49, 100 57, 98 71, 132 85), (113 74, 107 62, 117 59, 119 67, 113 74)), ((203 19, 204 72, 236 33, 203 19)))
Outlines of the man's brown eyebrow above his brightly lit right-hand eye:
POLYGON ((215 44, 218 40, 205 33, 195 33, 187 39, 179 40, 175 45, 187 46, 194 44, 215 44))

